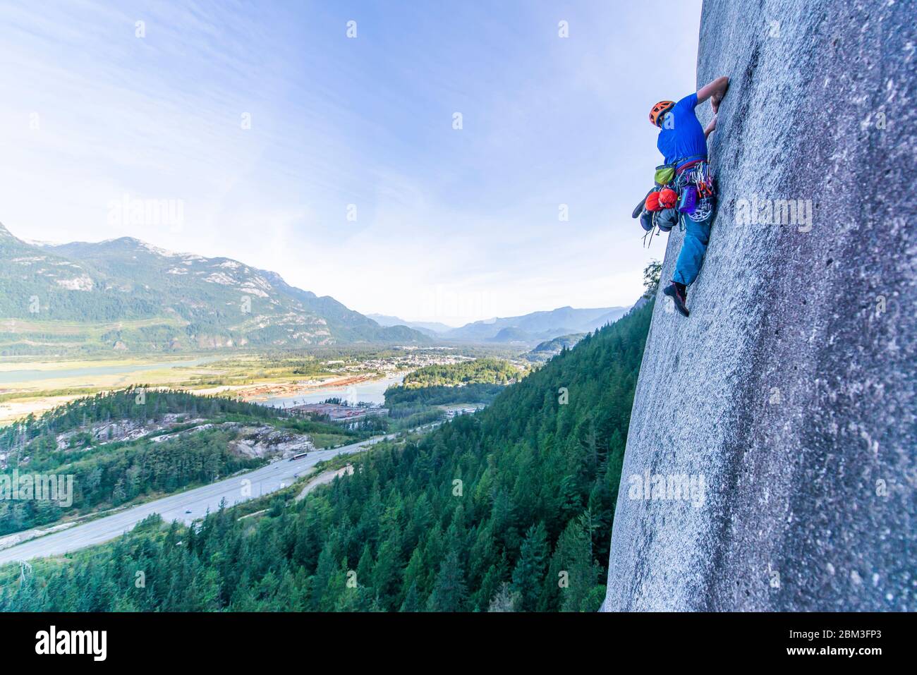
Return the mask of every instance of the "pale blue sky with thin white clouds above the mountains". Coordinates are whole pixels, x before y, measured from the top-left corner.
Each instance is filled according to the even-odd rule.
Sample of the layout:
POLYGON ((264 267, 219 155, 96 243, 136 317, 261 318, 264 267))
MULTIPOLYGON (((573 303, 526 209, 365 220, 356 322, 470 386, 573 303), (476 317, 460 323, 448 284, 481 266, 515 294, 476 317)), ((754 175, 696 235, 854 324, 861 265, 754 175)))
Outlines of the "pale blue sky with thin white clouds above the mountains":
POLYGON ((665 243, 630 218, 660 163, 646 115, 696 88, 700 10, 7 1, 0 222, 243 260, 405 319, 631 304, 665 243), (181 226, 113 224, 124 195, 182 200, 181 226))

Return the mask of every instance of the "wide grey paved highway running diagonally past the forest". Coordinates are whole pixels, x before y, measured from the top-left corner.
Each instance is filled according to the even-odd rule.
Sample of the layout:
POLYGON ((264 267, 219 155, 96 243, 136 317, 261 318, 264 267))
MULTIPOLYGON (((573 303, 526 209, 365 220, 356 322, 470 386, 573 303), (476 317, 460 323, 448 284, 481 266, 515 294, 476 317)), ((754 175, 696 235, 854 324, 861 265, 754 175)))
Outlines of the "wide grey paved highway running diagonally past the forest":
POLYGON ((203 517, 207 509, 215 511, 220 500, 226 499, 226 505, 245 502, 253 497, 274 492, 290 485, 294 480, 293 474, 303 475, 315 464, 323 459, 331 459, 337 455, 357 452, 373 443, 378 443, 386 437, 374 437, 359 443, 331 450, 313 450, 308 457, 290 461, 282 459, 272 462, 247 473, 241 473, 224 481, 217 481, 210 485, 194 488, 186 492, 172 494, 155 502, 143 503, 133 506, 119 514, 107 515, 84 525, 73 526, 70 529, 55 532, 45 537, 32 539, 17 546, 0 550, 0 565, 14 560, 28 560, 57 556, 62 553, 100 544, 110 539, 119 537, 122 533, 136 526, 150 514, 159 514, 167 523, 173 520, 190 524, 195 518, 203 517), (248 481, 248 482, 246 482, 248 481), (186 513, 190 511, 191 513, 186 513))

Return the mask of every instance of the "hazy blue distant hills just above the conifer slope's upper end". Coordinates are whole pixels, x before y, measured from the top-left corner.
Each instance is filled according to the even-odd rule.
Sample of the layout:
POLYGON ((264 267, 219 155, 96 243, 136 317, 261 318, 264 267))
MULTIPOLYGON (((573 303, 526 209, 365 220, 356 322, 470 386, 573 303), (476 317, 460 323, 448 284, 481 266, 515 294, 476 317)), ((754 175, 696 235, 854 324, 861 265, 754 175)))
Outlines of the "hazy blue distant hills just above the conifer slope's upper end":
POLYGON ((547 312, 475 321, 452 328, 441 337, 462 342, 537 342, 573 333, 590 333, 621 318, 628 309, 559 307, 547 312))

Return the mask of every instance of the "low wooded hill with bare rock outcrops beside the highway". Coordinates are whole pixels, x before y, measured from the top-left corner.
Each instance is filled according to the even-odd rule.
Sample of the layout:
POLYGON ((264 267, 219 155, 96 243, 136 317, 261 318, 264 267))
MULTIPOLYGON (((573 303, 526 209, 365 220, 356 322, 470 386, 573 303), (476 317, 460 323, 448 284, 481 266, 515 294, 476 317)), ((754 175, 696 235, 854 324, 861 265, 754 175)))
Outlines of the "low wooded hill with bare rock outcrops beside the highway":
POLYGON ((4 473, 73 477, 72 503, 0 501, 0 535, 255 469, 286 448, 375 431, 186 392, 127 389, 78 399, 0 430, 4 473))

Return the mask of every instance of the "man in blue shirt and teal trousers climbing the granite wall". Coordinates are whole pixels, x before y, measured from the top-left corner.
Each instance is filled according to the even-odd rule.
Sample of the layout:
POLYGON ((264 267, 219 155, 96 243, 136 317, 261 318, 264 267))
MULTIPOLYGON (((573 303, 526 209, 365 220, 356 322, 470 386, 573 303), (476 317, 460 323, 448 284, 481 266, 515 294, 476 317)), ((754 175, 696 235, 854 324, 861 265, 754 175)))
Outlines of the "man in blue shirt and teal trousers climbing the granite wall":
MULTIPOLYGON (((659 138, 656 146, 667 164, 675 164, 679 185, 687 184, 695 176, 709 177, 707 169, 707 137, 716 129, 716 116, 720 101, 729 86, 728 77, 720 77, 712 83, 705 84, 696 94, 688 94, 678 103, 659 101, 649 113, 649 121, 659 127, 659 138), (713 119, 707 128, 702 128, 694 107, 710 99, 713 108, 713 119), (691 171, 691 174, 686 172, 691 171)), ((700 180, 704 180, 701 178, 700 180)), ((712 191, 712 181, 710 181, 712 191)), ((711 194, 711 200, 713 196, 711 194)), ((711 201, 712 204, 712 201, 711 201)), ((709 216, 701 221, 693 217, 683 218, 687 224, 685 239, 681 244, 679 259, 675 263, 675 274, 663 293, 671 297, 679 312, 688 315, 688 286, 701 271, 703 254, 710 240, 710 224, 713 220, 713 209, 709 216)))

